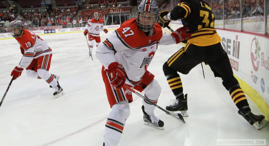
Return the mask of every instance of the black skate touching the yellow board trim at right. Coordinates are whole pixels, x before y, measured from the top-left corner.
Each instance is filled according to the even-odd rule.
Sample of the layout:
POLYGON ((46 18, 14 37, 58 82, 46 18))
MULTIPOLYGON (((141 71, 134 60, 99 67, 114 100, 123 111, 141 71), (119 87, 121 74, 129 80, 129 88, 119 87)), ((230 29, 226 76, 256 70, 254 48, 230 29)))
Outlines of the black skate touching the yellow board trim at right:
POLYGON ((249 110, 249 106, 243 106, 239 109, 238 114, 242 115, 250 125, 253 125, 256 129, 261 130, 268 122, 263 115, 254 115, 249 110))

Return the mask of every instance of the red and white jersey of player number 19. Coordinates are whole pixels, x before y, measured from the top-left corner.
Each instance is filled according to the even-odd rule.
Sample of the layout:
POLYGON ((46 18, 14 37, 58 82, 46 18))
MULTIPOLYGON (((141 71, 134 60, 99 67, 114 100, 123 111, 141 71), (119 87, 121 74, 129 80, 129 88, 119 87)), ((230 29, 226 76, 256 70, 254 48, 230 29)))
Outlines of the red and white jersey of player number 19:
POLYGON ((20 38, 18 37, 15 39, 24 49, 24 55, 21 58, 21 62, 18 67, 26 69, 34 58, 51 54, 52 50, 49 48, 46 41, 38 35, 35 35, 34 32, 27 29, 23 29, 23 32, 24 34, 20 38))

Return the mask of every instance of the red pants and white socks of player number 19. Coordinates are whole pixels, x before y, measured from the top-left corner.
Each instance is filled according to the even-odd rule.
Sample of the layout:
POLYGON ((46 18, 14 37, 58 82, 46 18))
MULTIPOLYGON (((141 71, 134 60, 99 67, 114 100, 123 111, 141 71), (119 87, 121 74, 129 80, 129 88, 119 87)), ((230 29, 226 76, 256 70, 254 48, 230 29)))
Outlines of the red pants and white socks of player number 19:
POLYGON ((50 86, 56 87, 57 81, 54 76, 49 73, 52 54, 40 56, 30 63, 26 68, 26 75, 35 79, 43 79, 50 86))

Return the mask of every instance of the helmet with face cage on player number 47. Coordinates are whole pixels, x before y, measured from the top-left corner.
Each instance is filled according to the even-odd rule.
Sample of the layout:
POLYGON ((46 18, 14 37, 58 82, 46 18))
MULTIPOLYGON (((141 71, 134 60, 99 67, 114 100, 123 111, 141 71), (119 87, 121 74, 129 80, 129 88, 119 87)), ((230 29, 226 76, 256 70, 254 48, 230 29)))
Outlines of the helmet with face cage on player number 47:
POLYGON ((136 21, 141 30, 150 31, 156 24, 159 9, 156 0, 142 0, 137 7, 136 21))

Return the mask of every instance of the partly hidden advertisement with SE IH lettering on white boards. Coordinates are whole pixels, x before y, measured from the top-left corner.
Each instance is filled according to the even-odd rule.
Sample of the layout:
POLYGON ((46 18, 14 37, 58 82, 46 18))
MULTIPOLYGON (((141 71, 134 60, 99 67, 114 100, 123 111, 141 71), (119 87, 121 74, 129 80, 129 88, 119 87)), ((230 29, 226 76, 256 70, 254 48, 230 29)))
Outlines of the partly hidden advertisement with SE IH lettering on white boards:
POLYGON ((222 38, 222 46, 226 53, 230 56, 229 60, 234 70, 238 71, 239 53, 240 53, 240 41, 238 41, 238 35, 235 36, 235 40, 229 38, 222 38))

